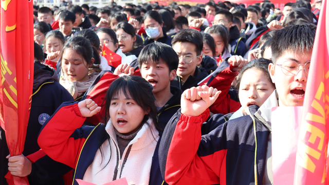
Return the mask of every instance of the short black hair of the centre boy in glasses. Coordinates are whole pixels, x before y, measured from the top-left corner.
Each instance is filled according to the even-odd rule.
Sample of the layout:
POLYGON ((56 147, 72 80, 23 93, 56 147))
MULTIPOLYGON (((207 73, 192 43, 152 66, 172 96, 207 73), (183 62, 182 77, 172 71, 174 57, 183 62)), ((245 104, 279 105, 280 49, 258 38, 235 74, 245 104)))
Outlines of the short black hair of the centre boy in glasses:
POLYGON ((195 29, 182 29, 180 30, 171 41, 171 45, 174 46, 177 42, 188 42, 195 45, 196 55, 200 55, 203 48, 204 42, 202 34, 195 29))

